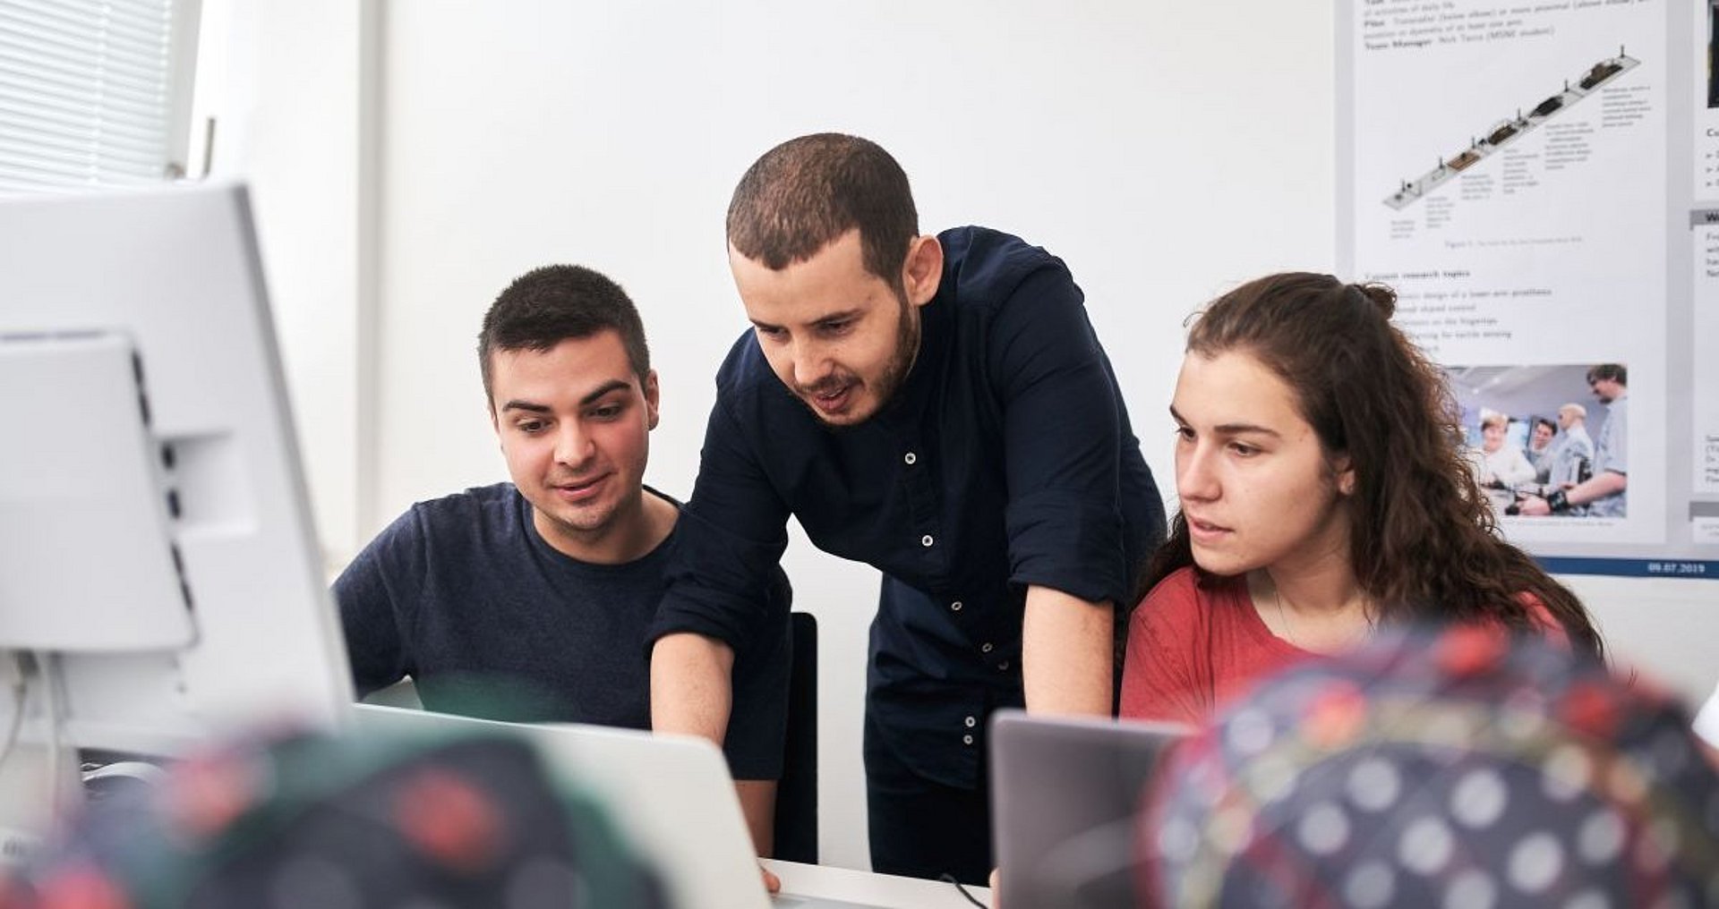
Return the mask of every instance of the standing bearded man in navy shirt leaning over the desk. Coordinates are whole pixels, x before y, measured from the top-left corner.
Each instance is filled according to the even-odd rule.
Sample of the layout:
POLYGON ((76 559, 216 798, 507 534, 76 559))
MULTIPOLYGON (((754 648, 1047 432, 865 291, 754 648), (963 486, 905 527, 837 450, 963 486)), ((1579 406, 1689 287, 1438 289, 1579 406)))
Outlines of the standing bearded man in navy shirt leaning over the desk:
POLYGON ((770 149, 727 237, 753 330, 717 375, 652 722, 722 741, 732 653, 786 619, 760 591, 792 516, 884 572, 872 866, 983 883, 987 717, 1110 713, 1114 613, 1164 533, 1110 363, 1061 259, 980 227, 920 235, 906 174, 865 139, 770 149))

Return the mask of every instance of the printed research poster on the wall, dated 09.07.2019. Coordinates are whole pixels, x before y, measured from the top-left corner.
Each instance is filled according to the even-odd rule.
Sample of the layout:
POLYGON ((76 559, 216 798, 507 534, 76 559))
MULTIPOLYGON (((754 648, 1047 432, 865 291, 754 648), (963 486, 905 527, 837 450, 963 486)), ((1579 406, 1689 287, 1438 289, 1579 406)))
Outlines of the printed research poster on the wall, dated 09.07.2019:
POLYGON ((1714 0, 1341 0, 1337 254, 1398 290, 1499 528, 1719 579, 1714 0))

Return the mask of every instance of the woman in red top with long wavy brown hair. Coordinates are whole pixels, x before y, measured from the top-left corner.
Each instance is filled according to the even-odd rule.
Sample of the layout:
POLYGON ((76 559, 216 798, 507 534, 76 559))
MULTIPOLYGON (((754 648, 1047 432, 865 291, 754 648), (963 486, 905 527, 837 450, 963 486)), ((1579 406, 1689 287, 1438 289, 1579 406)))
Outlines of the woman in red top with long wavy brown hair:
POLYGON ((1377 624, 1487 622, 1600 653, 1581 603, 1497 536, 1396 294, 1272 275, 1198 316, 1176 381, 1181 514, 1133 610, 1121 713, 1226 694, 1377 624))

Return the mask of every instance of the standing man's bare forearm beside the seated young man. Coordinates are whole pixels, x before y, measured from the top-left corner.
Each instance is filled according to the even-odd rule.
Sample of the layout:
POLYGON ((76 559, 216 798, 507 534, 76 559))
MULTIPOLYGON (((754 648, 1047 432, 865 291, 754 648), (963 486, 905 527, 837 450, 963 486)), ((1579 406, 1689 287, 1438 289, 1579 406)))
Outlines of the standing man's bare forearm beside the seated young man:
POLYGON ((734 651, 703 634, 667 634, 650 656, 650 725, 722 744, 732 708, 734 651))

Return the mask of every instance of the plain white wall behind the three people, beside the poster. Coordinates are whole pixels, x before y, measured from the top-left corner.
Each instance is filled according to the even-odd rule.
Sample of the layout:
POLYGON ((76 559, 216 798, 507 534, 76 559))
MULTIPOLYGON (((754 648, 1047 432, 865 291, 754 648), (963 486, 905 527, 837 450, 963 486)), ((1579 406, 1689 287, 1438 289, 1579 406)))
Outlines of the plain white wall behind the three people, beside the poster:
MULTIPOLYGON (((315 7, 332 36, 277 31, 265 55, 289 98, 318 91, 318 77, 291 84, 327 70, 315 55, 351 46, 354 14, 330 0, 315 7)), ((1234 282, 1332 266, 1334 24, 1324 0, 636 7, 387 3, 375 48, 380 119, 316 139, 309 162, 342 162, 320 201, 320 177, 275 177, 303 192, 301 215, 330 204, 335 220, 287 229, 287 192, 260 187, 289 366, 332 364, 297 366, 328 381, 294 383, 328 540, 363 541, 416 498, 505 476, 473 340, 507 280, 548 261, 607 271, 638 301, 664 383, 648 479, 686 495, 712 375, 744 326, 724 263, 727 196, 753 158, 796 134, 880 141, 913 179, 925 230, 985 223, 1066 258, 1165 491, 1164 406, 1181 320, 1234 282), (346 144, 364 146, 370 129, 380 144, 346 144), (368 172, 366 153, 378 182, 347 189, 346 174, 368 172), (380 199, 373 220, 346 204, 364 196, 380 199), (351 232, 349 251, 328 254, 323 227, 351 232), (354 265, 370 232, 378 254, 354 265), (352 277, 366 268, 375 296, 352 277), (340 328, 366 318, 375 337, 340 328), (333 345, 292 325, 333 325, 333 345)), ((359 65, 340 65, 358 79, 359 65)), ((337 95, 346 105, 359 88, 337 95)), ((316 122, 304 100, 277 110, 316 122)), ((860 705, 875 574, 803 540, 787 569, 822 629, 825 861, 863 868, 860 705)), ((1707 589, 1580 586, 1618 651, 1652 656, 1691 692, 1712 684, 1707 589)))

